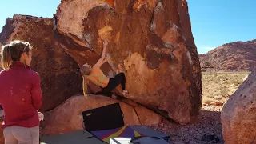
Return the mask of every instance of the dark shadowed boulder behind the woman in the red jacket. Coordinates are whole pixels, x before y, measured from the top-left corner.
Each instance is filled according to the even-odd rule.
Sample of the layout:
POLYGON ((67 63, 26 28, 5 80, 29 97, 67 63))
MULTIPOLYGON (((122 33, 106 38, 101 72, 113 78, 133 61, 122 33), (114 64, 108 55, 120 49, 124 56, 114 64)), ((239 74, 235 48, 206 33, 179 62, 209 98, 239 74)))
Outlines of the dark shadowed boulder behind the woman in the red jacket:
POLYGON ((79 66, 54 40, 52 18, 8 18, 0 33, 0 43, 16 39, 34 47, 31 68, 41 77, 43 111, 53 109, 74 94, 82 94, 79 66))

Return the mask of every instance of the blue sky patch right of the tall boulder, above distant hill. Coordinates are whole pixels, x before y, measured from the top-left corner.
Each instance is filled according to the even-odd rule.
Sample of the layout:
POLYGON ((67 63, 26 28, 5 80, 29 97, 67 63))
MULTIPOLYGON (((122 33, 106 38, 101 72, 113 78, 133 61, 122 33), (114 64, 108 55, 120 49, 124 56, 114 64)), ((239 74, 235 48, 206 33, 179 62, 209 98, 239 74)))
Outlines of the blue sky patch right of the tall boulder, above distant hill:
POLYGON ((187 0, 198 53, 256 39, 256 0, 187 0))

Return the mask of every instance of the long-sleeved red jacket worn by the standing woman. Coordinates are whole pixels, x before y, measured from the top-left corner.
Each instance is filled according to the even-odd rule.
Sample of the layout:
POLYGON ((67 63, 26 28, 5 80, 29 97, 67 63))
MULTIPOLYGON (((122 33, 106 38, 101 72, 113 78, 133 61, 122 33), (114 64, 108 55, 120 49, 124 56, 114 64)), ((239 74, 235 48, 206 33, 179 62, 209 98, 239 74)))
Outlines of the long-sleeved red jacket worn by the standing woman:
POLYGON ((40 81, 39 75, 21 62, 0 72, 0 103, 5 112, 3 127, 39 125, 37 110, 42 106, 40 81))

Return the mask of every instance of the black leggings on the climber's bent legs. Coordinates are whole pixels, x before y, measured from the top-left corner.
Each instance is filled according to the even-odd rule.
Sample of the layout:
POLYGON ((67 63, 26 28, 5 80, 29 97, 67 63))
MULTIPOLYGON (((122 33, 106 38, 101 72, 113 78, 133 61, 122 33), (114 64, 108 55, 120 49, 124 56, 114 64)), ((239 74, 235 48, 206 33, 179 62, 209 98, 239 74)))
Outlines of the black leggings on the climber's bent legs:
POLYGON ((110 91, 114 90, 119 84, 121 84, 122 90, 126 90, 126 75, 124 73, 119 73, 114 78, 110 78, 110 82, 107 86, 102 88, 102 94, 111 96, 110 91))

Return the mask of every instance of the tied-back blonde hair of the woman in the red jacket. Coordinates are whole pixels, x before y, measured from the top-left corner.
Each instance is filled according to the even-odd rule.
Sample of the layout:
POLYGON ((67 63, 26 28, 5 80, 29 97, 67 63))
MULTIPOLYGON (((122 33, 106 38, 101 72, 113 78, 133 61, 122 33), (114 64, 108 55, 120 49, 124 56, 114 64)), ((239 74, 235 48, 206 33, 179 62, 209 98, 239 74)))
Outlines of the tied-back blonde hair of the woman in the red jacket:
POLYGON ((19 61, 23 53, 29 53, 32 50, 29 42, 15 40, 10 44, 2 46, 1 65, 5 70, 9 70, 10 66, 19 61))

